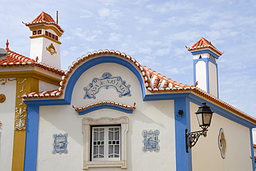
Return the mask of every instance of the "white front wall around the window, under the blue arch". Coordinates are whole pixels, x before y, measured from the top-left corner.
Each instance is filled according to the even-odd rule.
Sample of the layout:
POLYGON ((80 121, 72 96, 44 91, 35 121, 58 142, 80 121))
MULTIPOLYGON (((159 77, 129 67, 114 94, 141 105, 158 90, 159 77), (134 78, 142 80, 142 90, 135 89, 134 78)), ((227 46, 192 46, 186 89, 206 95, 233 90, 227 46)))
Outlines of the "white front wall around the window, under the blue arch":
MULTIPOLYGON (((128 117, 127 169, 125 170, 176 170, 174 101, 143 101, 138 79, 127 68, 114 63, 103 63, 87 70, 75 84, 71 105, 42 106, 39 108, 39 144, 37 170, 82 170, 83 137, 82 119, 91 117, 128 117), (119 97, 109 87, 101 88, 95 99, 84 99, 84 87, 93 78, 100 78, 104 72, 112 77, 121 77, 130 85, 131 97, 119 97), (116 101, 126 105, 136 102, 134 113, 100 109, 78 115, 72 108, 86 106, 98 101, 116 101), (159 130, 159 152, 143 152, 143 130, 159 130), (68 134, 68 154, 52 154, 53 134, 68 134)), ((89 170, 123 170, 121 168, 90 168, 89 170)))

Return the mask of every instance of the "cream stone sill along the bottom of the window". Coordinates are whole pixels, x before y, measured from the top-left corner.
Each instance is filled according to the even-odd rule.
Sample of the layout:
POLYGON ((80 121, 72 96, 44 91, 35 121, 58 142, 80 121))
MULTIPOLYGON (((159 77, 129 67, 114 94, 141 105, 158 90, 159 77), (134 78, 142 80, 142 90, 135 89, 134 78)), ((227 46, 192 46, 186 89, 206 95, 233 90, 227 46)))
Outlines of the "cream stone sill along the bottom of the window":
POLYGON ((84 169, 89 168, 127 168, 126 161, 86 161, 84 162, 84 169))

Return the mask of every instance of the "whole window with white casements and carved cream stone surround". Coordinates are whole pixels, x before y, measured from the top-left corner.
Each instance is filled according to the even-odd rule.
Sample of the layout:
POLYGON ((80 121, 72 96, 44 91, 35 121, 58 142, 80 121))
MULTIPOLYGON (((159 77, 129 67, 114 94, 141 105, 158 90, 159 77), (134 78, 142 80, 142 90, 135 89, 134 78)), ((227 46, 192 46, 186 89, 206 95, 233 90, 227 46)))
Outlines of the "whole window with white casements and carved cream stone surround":
POLYGON ((84 169, 127 168, 128 117, 82 120, 84 169))

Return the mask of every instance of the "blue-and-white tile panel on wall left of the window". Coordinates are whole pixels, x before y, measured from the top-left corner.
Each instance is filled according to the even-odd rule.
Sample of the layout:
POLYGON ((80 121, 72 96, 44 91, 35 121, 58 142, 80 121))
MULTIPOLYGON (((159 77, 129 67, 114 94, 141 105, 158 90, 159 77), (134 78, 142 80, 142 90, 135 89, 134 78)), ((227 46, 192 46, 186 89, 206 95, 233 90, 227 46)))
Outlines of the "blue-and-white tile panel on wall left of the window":
POLYGON ((53 154, 68 154, 68 134, 53 134, 53 154))

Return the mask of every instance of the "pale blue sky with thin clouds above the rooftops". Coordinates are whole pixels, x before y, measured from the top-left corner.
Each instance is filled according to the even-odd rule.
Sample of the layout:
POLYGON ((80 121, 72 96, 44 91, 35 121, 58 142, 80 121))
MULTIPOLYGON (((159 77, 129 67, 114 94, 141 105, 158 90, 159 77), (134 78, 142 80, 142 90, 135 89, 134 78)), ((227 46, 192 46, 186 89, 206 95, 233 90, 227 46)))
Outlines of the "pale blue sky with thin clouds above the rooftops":
POLYGON ((29 57, 42 11, 65 30, 62 70, 93 50, 119 50, 174 81, 193 85, 192 46, 204 37, 221 52, 219 99, 256 117, 256 1, 1 1, 0 47, 29 57))

